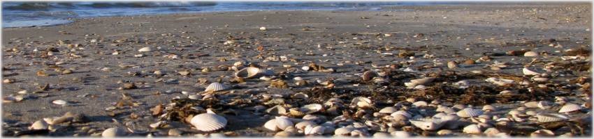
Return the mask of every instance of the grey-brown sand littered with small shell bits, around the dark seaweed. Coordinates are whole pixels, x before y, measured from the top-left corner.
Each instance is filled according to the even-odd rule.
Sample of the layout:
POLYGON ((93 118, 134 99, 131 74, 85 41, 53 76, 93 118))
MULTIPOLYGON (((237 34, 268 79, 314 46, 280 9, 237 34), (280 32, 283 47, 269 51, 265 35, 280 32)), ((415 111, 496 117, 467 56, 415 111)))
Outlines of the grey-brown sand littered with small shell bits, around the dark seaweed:
MULTIPOLYGON (((15 82, 2 83, 2 97, 17 95, 20 90, 28 90, 27 95, 30 96, 24 101, 3 103, 2 119, 10 124, 8 129, 11 129, 3 130, 3 135, 10 136, 10 132, 24 130, 36 120, 57 117, 68 111, 83 113, 89 121, 71 124, 59 129, 59 132, 48 134, 49 136, 90 136, 92 133, 80 131, 83 126, 103 131, 112 126, 134 124, 147 129, 148 124, 158 121, 158 117, 151 116, 150 108, 158 104, 169 104, 171 99, 185 96, 180 93, 182 91, 201 92, 208 83, 198 83, 199 78, 212 82, 217 77, 224 76, 224 81, 229 81, 234 73, 202 73, 203 68, 233 65, 239 60, 264 67, 267 65, 276 73, 287 70, 282 65, 300 69, 309 62, 314 62, 333 68, 335 72, 295 72, 292 76, 301 76, 310 82, 330 78, 357 80, 358 75, 355 74, 372 69, 372 65, 402 65, 411 60, 408 57, 398 57, 400 51, 407 50, 414 52, 415 58, 409 61, 410 65, 404 66, 418 70, 419 72, 414 72, 416 76, 443 71, 470 74, 472 70, 522 76, 523 65, 533 61, 533 58, 539 60, 532 64, 533 67, 542 69, 546 63, 563 56, 566 49, 591 49, 592 13, 589 3, 395 6, 384 9, 398 11, 251 11, 140 15, 75 19, 71 24, 57 26, 3 28, 3 80, 13 79, 15 82), (405 11, 400 11, 402 9, 405 11), (261 26, 265 26, 267 30, 260 31, 261 26), (383 35, 388 33, 391 34, 390 37, 383 35), (419 36, 419 33, 423 35, 419 36), (224 42, 229 37, 235 38, 238 44, 225 45, 224 42), (122 39, 126 40, 117 41, 122 39), (551 42, 551 39, 555 41, 551 42), (60 45, 59 40, 66 44, 60 45), (92 40, 97 42, 91 42, 92 40), (551 43, 553 47, 549 46, 551 43), (68 48, 67 44, 81 46, 68 48), (256 49, 259 46, 263 46, 264 52, 256 49), (59 52, 54 52, 53 56, 42 53, 50 47, 57 48, 59 52), (151 47, 154 51, 139 52, 138 49, 143 47, 151 47), (544 52, 548 56, 505 55, 507 51, 520 49, 544 52), (114 55, 115 52, 118 54, 114 55), (135 57, 137 54, 143 56, 135 57), (168 54, 175 54, 179 58, 168 58, 168 54), (263 59, 256 58, 259 54, 263 58, 287 56, 295 61, 270 60, 263 63, 263 59), (426 54, 433 57, 423 58, 426 54), (486 55, 492 59, 475 65, 461 64, 456 69, 447 67, 447 62, 451 60, 462 63, 464 60, 477 60, 486 55), (226 61, 220 61, 221 58, 226 58, 226 61), (495 60, 512 64, 502 70, 484 67, 495 60), (343 64, 340 66, 337 63, 343 64), (55 71, 56 67, 72 69, 73 73, 61 74, 55 71), (110 70, 103 71, 104 67, 110 70), (40 70, 49 76, 38 76, 36 72, 40 70), (155 70, 161 70, 166 75, 154 76, 152 73, 155 70), (189 71, 191 75, 182 76, 178 74, 181 71, 189 71), (121 82, 136 83, 138 89, 118 90, 123 84, 121 82), (49 90, 34 93, 40 91, 38 86, 45 83, 50 84, 49 90), (114 106, 122 93, 131 96, 133 101, 138 102, 138 106, 117 109, 115 113, 118 114, 112 117, 112 112, 106 111, 106 108, 114 106), (69 101, 72 105, 52 104, 57 99, 69 101), (139 115, 139 118, 131 120, 130 113, 139 115), (119 121, 119 124, 114 123, 114 120, 119 121)), ((590 63, 591 57, 588 56, 587 61, 590 63)), ((567 80, 580 76, 591 78, 591 70, 567 68, 558 70, 556 74, 563 76, 556 76, 549 82, 552 84, 549 85, 553 90, 551 92, 555 92, 559 86, 569 84, 567 80)), ((291 88, 267 88, 270 83, 259 79, 249 79, 247 83, 227 82, 227 85, 234 87, 234 92, 219 97, 259 99, 257 96, 261 94, 291 94, 310 90, 314 86, 295 85, 292 78, 285 81, 291 88)), ((470 81, 486 84, 484 78, 479 77, 470 81)), ((347 83, 337 85, 335 92, 370 97, 369 93, 363 93, 369 90, 368 86, 371 85, 353 86, 352 83, 347 83)), ((398 88, 405 90, 402 83, 398 88)), ((498 89, 500 90, 496 91, 504 88, 498 89)), ((565 93, 556 93, 573 98, 570 99, 571 103, 581 105, 585 101, 591 101, 581 99, 589 90, 574 88, 563 92, 565 93)), ((418 91, 408 89, 398 93, 418 91)), ((403 99, 390 96, 394 101, 398 101, 396 98, 403 99)), ((544 98, 554 101, 550 96, 542 97, 544 98)), ((532 101, 537 99, 541 98, 534 98, 532 101)), ((521 103, 493 105, 509 110, 521 106, 521 103)), ((253 113, 243 108, 233 109, 238 115, 226 114, 229 124, 220 133, 233 131, 240 136, 274 135, 275 132, 262 127, 273 115, 253 113)), ((591 117, 591 114, 588 115, 591 117)), ((591 127, 591 123, 589 125, 591 127)), ((187 134, 184 135, 187 136, 202 133, 190 129, 189 124, 173 122, 171 126, 186 131, 187 134)), ((142 128, 139 127, 140 129, 142 128)), ((155 134, 166 132, 166 129, 162 129, 155 131, 155 134)), ((591 136, 591 131, 587 133, 591 136)))

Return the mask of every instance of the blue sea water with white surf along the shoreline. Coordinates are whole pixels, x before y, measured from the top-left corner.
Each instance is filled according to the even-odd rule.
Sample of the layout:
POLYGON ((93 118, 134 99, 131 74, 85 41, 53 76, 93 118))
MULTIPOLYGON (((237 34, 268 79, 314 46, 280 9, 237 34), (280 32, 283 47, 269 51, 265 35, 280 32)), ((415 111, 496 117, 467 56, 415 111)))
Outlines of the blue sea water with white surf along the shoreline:
POLYGON ((51 26, 76 18, 254 10, 382 10, 436 2, 2 2, 2 27, 51 26))

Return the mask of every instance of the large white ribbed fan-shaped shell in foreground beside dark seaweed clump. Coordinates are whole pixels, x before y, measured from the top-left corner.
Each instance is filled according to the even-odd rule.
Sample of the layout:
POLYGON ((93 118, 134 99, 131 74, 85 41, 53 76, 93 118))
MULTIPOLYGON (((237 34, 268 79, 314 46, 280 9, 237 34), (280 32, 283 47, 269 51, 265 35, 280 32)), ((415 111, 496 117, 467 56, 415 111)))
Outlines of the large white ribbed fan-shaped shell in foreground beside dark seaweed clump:
POLYGON ((190 123, 199 131, 215 131, 224 128, 227 120, 213 113, 202 113, 192 117, 190 123))

